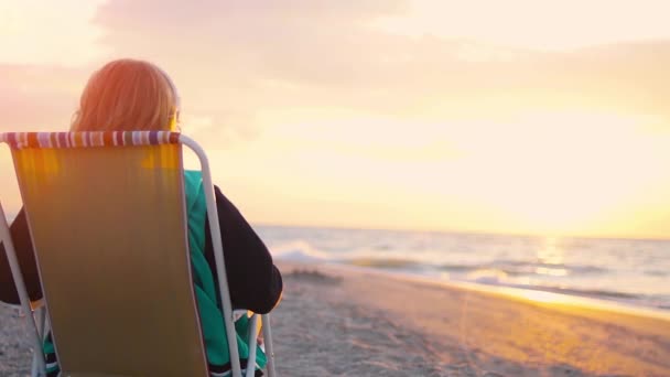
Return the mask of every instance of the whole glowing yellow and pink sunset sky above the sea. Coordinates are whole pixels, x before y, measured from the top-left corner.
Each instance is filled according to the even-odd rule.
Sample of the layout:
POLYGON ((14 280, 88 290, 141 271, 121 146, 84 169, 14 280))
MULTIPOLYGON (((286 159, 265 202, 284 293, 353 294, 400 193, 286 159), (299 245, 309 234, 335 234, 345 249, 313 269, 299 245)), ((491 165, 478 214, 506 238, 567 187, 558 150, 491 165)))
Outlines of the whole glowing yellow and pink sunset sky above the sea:
POLYGON ((143 58, 252 224, 667 238, 668 8, 2 2, 0 131, 66 130, 96 68, 143 58))

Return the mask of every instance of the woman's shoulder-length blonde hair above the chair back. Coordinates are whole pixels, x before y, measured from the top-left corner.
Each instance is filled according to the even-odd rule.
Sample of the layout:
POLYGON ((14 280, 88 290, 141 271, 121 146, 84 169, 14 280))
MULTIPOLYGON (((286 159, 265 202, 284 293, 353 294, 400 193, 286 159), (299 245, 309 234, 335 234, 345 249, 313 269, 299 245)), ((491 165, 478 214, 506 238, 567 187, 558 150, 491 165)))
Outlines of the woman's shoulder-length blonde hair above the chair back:
POLYGON ((118 60, 93 74, 82 93, 71 131, 173 130, 180 98, 155 65, 118 60))

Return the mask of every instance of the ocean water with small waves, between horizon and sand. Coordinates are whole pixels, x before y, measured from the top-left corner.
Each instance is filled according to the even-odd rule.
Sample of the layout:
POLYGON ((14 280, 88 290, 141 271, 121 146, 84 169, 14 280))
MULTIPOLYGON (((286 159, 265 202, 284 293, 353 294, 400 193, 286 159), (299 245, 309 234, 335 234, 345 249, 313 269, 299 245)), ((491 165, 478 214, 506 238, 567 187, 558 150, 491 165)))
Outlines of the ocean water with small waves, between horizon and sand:
POLYGON ((670 240, 255 227, 273 258, 670 312, 670 240))

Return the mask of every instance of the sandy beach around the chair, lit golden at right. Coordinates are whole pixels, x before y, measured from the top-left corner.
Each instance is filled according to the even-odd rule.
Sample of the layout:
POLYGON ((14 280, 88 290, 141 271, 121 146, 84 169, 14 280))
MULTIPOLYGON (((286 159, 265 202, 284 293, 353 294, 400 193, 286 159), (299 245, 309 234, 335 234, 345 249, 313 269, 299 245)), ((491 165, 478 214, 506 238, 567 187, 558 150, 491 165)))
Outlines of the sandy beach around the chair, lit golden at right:
MULTIPOLYGON (((670 376, 670 321, 335 266, 281 263, 280 376, 670 376)), ((25 376, 0 305, 0 376, 25 376)))

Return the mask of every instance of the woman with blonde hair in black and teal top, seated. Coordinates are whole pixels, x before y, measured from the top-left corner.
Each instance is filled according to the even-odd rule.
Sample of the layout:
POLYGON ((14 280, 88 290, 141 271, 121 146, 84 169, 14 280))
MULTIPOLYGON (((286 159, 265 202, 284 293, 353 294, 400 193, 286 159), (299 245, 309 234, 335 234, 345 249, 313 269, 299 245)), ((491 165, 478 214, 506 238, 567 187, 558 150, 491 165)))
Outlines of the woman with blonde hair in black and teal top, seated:
MULTIPOLYGON (((71 131, 171 130, 179 127, 180 97, 170 77, 155 65, 119 60, 96 72, 84 93, 71 131)), ((194 270, 195 293, 205 338, 209 369, 218 375, 230 368, 217 276, 206 220, 206 205, 199 172, 185 172, 188 208, 188 240, 194 270)), ((230 299, 235 309, 270 312, 281 299, 282 279, 267 247, 237 208, 215 186, 220 219, 230 299)), ((19 213, 11 225, 12 239, 31 300, 42 298, 37 267, 32 251, 25 214, 19 213)), ((19 297, 0 245, 0 301, 18 304, 19 297)), ((244 324, 238 321, 238 331, 244 324)), ((247 364, 246 343, 238 336, 242 367, 247 364)), ((53 344, 45 344, 50 376, 57 374, 53 344)), ((261 367, 266 359, 258 353, 261 367)), ((252 364, 253 365, 253 364, 252 364)))

